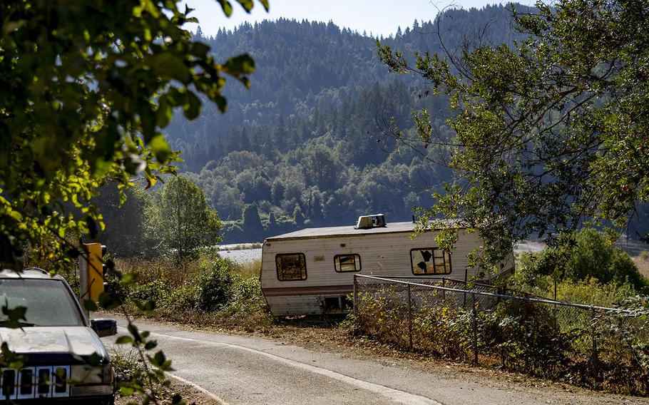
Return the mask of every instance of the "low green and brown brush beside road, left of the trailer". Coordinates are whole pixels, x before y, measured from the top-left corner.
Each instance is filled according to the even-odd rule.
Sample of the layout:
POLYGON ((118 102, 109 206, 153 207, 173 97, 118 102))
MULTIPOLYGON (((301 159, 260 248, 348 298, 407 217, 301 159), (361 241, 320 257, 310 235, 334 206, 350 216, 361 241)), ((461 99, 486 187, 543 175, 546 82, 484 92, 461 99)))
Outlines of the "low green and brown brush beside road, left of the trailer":
POLYGON ((116 265, 135 282, 126 287, 111 283, 109 287, 137 313, 145 314, 138 309, 145 302, 155 302, 155 311, 147 311, 147 315, 165 321, 249 332, 272 324, 261 293, 260 260, 238 265, 215 252, 203 251, 197 259, 180 263, 173 257, 155 261, 132 258, 117 259, 116 265))

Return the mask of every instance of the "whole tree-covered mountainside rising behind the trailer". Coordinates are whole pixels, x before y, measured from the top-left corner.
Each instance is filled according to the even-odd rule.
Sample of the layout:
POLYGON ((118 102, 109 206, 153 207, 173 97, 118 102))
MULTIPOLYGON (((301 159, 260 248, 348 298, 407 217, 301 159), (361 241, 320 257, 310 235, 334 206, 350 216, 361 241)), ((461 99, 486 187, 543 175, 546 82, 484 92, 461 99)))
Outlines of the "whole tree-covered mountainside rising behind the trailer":
MULTIPOLYGON (((179 115, 168 128, 183 151, 181 170, 225 221, 225 242, 351 225, 369 213, 409 220, 413 207, 431 205, 431 193, 453 180, 443 146, 417 153, 390 136, 394 124, 414 136, 412 111, 426 108, 431 125, 450 140, 447 101, 412 75, 389 73, 370 34, 280 19, 195 36, 217 59, 247 52, 257 65, 250 90, 228 82, 228 113, 204 103, 198 120, 179 115)), ((453 52, 514 39, 510 11, 486 6, 446 11, 440 26, 414 21, 380 40, 409 55, 441 53, 442 43, 453 52)))

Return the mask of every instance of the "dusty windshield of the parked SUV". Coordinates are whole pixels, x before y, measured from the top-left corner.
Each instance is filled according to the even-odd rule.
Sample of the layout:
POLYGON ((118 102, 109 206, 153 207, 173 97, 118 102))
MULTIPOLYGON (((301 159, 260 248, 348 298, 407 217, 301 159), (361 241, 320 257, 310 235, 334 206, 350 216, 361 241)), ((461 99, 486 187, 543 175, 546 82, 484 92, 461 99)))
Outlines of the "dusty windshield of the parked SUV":
MULTIPOLYGON (((0 280, 0 307, 26 307, 25 326, 83 326, 81 314, 67 287, 60 280, 0 280)), ((0 320, 6 315, 0 314, 0 320)))

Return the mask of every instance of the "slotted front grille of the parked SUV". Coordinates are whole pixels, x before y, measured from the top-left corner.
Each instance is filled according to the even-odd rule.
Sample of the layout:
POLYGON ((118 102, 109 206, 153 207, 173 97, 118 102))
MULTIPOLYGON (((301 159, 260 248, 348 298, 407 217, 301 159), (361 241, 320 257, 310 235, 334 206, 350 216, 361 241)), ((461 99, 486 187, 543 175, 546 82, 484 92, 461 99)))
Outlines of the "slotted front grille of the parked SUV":
POLYGON ((0 369, 0 400, 70 396, 70 366, 0 369))

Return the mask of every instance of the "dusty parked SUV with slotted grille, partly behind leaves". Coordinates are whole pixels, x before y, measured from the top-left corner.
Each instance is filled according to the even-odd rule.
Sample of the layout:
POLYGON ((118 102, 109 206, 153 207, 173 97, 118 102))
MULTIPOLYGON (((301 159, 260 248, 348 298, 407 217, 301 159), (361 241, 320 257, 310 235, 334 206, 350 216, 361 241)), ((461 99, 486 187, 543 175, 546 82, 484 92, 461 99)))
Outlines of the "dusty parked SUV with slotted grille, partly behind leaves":
POLYGON ((66 280, 37 268, 0 270, 0 307, 26 307, 19 328, 0 327, 1 342, 26 357, 19 369, 0 369, 0 402, 113 404, 113 368, 99 337, 116 334, 115 321, 88 322, 66 280))

